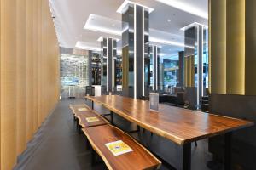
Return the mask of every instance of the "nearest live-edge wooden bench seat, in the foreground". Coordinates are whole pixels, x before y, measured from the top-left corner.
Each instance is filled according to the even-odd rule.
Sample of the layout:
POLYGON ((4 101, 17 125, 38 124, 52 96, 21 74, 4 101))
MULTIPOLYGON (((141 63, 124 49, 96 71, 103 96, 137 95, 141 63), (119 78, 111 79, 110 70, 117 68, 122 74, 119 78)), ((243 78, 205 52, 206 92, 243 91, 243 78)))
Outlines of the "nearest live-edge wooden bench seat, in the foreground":
POLYGON ((108 169, 113 170, 141 170, 158 169, 161 162, 153 156, 143 145, 132 139, 127 133, 124 133, 112 125, 103 125, 82 129, 87 139, 89 139, 92 148, 97 152, 105 162, 108 169), (106 144, 122 140, 131 148, 131 152, 114 156, 108 150, 106 144))

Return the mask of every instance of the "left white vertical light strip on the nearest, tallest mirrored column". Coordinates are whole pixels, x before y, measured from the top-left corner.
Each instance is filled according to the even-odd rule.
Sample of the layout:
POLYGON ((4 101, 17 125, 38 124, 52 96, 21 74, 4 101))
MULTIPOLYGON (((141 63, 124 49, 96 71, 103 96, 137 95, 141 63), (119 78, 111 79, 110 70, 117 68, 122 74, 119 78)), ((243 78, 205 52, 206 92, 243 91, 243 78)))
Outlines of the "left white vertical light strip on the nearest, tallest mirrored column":
POLYGON ((136 4, 134 4, 134 33, 133 33, 133 45, 134 45, 134 99, 137 99, 137 41, 136 41, 136 37, 137 37, 137 25, 136 25, 136 4))

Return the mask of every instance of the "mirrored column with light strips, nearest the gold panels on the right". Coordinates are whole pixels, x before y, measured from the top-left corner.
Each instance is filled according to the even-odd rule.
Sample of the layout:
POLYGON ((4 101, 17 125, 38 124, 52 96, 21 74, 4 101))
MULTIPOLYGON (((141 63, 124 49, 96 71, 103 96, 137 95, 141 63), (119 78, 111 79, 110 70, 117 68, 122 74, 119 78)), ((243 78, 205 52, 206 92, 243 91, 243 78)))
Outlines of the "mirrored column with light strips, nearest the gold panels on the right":
POLYGON ((198 109, 208 84, 207 27, 193 23, 184 28, 184 86, 189 94, 191 109, 198 109))

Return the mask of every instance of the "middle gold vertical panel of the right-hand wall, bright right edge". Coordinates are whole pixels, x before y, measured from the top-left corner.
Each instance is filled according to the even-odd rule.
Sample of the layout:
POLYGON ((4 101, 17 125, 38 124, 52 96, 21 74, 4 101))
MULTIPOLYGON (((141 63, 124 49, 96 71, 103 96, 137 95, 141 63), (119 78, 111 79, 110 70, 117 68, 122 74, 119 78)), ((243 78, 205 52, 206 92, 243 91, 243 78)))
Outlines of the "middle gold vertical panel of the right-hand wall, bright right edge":
MULTIPOLYGON (((245 0, 227 1, 227 94, 244 94, 245 0)), ((212 72, 213 73, 213 72, 212 72)))

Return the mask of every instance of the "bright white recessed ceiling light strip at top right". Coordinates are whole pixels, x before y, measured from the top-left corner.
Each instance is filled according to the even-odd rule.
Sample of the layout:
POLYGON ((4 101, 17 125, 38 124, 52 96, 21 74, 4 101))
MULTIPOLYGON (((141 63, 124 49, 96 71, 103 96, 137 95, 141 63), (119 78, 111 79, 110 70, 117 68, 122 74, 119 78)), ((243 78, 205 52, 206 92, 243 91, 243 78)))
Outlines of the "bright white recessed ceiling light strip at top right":
POLYGON ((178 8, 190 14, 195 14, 196 16, 200 16, 201 18, 208 19, 208 13, 206 11, 201 10, 200 8, 195 8, 188 3, 183 3, 177 0, 156 0, 160 3, 165 3, 166 5, 172 6, 174 8, 178 8))

